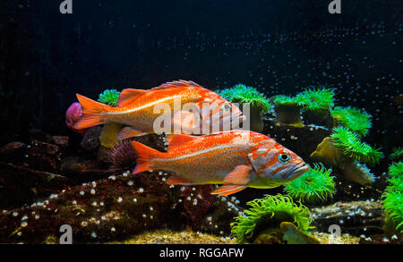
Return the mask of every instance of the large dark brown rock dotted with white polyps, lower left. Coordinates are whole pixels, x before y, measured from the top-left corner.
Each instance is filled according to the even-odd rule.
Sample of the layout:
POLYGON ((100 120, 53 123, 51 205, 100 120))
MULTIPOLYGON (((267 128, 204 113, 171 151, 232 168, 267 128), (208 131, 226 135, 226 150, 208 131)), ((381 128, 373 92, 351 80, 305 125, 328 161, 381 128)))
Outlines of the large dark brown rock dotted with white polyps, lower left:
MULTIPOLYGON (((67 187, 30 207, 7 210, 0 214, 0 242, 43 243, 58 239, 62 224, 72 226, 73 243, 121 241, 157 229, 177 231, 191 227, 201 231, 186 217, 183 187, 169 186, 164 179, 158 172, 124 173, 67 187)), ((225 216, 237 216, 235 209, 228 210, 228 203, 225 198, 216 198, 207 212, 221 214, 211 218, 211 227, 218 232, 230 230, 232 220, 223 219, 225 216)))

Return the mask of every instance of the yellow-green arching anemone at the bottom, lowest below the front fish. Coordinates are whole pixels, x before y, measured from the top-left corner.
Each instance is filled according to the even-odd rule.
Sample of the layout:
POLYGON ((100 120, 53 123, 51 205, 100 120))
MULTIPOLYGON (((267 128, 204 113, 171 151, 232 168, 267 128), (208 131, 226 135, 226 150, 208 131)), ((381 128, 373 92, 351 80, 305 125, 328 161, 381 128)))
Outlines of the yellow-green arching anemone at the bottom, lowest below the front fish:
POLYGON ((244 211, 245 216, 237 216, 231 224, 232 235, 238 243, 252 243, 259 232, 270 227, 278 227, 282 222, 290 222, 304 233, 311 226, 311 212, 301 203, 294 203, 289 196, 266 195, 247 203, 252 208, 244 211))

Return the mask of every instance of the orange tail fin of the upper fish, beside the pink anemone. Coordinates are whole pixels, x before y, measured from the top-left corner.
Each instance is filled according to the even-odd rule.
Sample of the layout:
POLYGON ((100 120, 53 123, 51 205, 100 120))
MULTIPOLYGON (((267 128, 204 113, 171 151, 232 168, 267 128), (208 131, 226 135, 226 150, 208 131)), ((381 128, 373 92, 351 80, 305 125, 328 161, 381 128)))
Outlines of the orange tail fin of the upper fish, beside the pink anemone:
POLYGON ((82 115, 79 122, 75 124, 76 129, 89 128, 104 123, 105 118, 102 113, 107 112, 109 106, 79 94, 77 94, 77 99, 82 107, 82 115))

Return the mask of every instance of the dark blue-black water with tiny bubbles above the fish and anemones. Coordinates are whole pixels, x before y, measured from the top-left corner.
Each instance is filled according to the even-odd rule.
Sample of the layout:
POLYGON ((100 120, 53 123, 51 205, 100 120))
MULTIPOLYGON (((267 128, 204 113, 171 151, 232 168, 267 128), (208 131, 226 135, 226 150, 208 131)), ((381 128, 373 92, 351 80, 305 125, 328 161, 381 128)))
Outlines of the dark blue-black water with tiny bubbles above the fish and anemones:
MULTIPOLYGON (((366 139, 401 145, 402 1, 330 0, 0 2, 0 145, 30 128, 72 134, 75 93, 194 80, 242 82, 268 97, 334 87, 338 106, 373 114, 366 139)), ((388 153, 388 152, 386 152, 388 153)))

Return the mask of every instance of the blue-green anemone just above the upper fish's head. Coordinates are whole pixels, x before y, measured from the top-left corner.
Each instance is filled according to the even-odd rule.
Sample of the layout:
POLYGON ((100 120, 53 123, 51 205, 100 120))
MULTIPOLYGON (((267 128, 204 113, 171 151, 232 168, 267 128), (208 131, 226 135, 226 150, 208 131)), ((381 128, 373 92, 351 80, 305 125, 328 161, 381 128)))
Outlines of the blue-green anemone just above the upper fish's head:
POLYGON ((261 114, 269 113, 272 107, 269 99, 261 92, 253 87, 246 87, 243 84, 237 84, 232 89, 224 89, 219 92, 219 95, 231 103, 251 104, 251 107, 258 108, 261 114))

